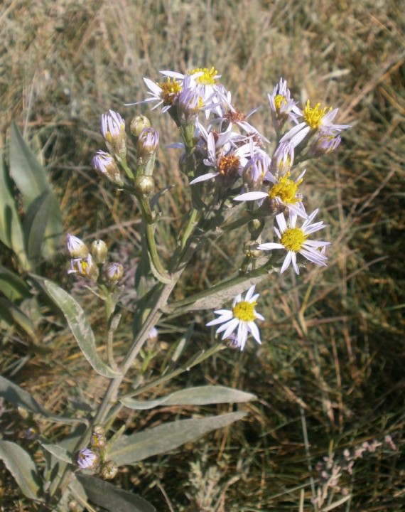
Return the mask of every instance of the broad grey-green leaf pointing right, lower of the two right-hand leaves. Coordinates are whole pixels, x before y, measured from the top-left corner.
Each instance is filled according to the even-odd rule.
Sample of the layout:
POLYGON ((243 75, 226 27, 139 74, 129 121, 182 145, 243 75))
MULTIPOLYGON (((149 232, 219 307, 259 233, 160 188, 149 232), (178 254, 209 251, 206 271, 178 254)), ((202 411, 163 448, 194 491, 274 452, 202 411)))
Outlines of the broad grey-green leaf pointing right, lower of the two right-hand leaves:
POLYGON ((112 447, 108 457, 119 466, 134 464, 147 457, 170 452, 207 432, 226 427, 246 415, 247 412, 230 412, 221 416, 175 421, 144 432, 122 436, 112 447))

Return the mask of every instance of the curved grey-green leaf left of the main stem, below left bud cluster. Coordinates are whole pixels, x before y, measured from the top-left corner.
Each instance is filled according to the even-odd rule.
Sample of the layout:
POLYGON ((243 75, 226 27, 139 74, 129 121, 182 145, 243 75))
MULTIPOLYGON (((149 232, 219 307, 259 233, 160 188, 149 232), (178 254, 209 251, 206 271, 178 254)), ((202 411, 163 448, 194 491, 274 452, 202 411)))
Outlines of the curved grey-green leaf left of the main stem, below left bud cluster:
POLYGON ((109 368, 109 366, 99 358, 96 350, 95 335, 80 305, 77 304, 75 299, 70 297, 68 292, 65 292, 65 290, 58 287, 53 282, 45 281, 44 284, 45 288, 48 290, 49 296, 53 299, 55 304, 58 304, 65 315, 65 319, 68 321, 70 331, 72 331, 73 336, 75 336, 77 345, 80 346, 80 350, 92 368, 103 377, 119 377, 119 373, 109 368))

